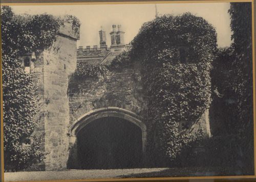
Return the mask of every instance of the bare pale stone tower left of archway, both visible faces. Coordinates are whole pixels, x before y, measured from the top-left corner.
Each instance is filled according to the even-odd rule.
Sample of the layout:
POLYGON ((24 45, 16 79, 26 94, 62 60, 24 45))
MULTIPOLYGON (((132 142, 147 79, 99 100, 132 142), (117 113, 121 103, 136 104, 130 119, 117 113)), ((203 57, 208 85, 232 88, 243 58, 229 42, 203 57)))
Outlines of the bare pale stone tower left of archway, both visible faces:
POLYGON ((76 69, 76 40, 71 21, 60 28, 56 41, 41 51, 34 62, 34 73, 39 91, 38 127, 35 134, 44 136, 42 149, 47 152, 42 170, 67 168, 69 150, 69 75, 76 69))

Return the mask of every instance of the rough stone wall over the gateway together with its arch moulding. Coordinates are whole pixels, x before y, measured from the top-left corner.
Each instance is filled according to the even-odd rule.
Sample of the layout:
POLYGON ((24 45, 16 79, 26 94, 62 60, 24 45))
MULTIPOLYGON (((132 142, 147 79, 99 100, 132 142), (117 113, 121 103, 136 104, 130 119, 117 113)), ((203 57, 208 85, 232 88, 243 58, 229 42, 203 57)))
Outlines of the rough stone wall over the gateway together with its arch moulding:
MULTIPOLYGON (((68 95, 70 106, 70 169, 80 169, 77 158, 77 138, 74 135, 74 125, 85 115, 90 120, 103 116, 121 117, 131 122, 138 119, 142 129, 142 143, 146 142, 146 126, 141 116, 146 110, 146 101, 143 94, 140 67, 113 70, 99 79, 79 79, 71 76, 68 95), (126 114, 125 114, 126 113, 126 114), (134 116, 134 117, 133 117, 134 116)), ((79 123, 83 125, 84 123, 79 123)), ((79 127, 79 126, 78 126, 79 127)), ((143 149, 144 149, 143 145, 143 149)))

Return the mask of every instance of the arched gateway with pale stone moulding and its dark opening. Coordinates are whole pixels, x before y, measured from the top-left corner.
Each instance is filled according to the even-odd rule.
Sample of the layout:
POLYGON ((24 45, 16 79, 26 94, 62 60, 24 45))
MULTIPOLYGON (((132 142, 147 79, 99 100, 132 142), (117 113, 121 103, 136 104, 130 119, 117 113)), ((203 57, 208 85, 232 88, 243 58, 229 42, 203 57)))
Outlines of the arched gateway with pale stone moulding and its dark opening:
POLYGON ((141 167, 146 126, 135 113, 108 107, 81 116, 72 125, 72 160, 78 169, 141 167))

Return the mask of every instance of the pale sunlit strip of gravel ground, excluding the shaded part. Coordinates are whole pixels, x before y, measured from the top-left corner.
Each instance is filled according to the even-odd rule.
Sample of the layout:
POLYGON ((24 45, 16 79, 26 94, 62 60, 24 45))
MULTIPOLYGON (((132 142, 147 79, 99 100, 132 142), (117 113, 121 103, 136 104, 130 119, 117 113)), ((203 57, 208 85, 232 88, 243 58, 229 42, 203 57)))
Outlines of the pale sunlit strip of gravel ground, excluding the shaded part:
POLYGON ((166 169, 168 168, 7 172, 5 181, 117 178, 124 175, 160 172, 166 169))

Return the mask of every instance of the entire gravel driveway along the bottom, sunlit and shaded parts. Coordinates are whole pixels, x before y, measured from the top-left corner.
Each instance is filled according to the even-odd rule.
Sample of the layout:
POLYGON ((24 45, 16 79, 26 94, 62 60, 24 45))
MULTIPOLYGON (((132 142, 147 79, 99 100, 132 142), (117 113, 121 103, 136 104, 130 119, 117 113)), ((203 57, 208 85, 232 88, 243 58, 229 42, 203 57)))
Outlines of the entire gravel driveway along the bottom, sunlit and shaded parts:
MULTIPOLYGON (((132 178, 133 177, 179 177, 179 176, 236 176, 253 175, 242 173, 239 168, 223 167, 183 167, 183 168, 142 168, 109 170, 66 170, 6 172, 5 181, 57 180, 57 179, 94 179, 95 178, 132 178)), ((196 179, 195 181, 197 181, 196 179)), ((73 180, 74 181, 74 180, 73 180)), ((111 179, 110 179, 111 181, 111 179)))

